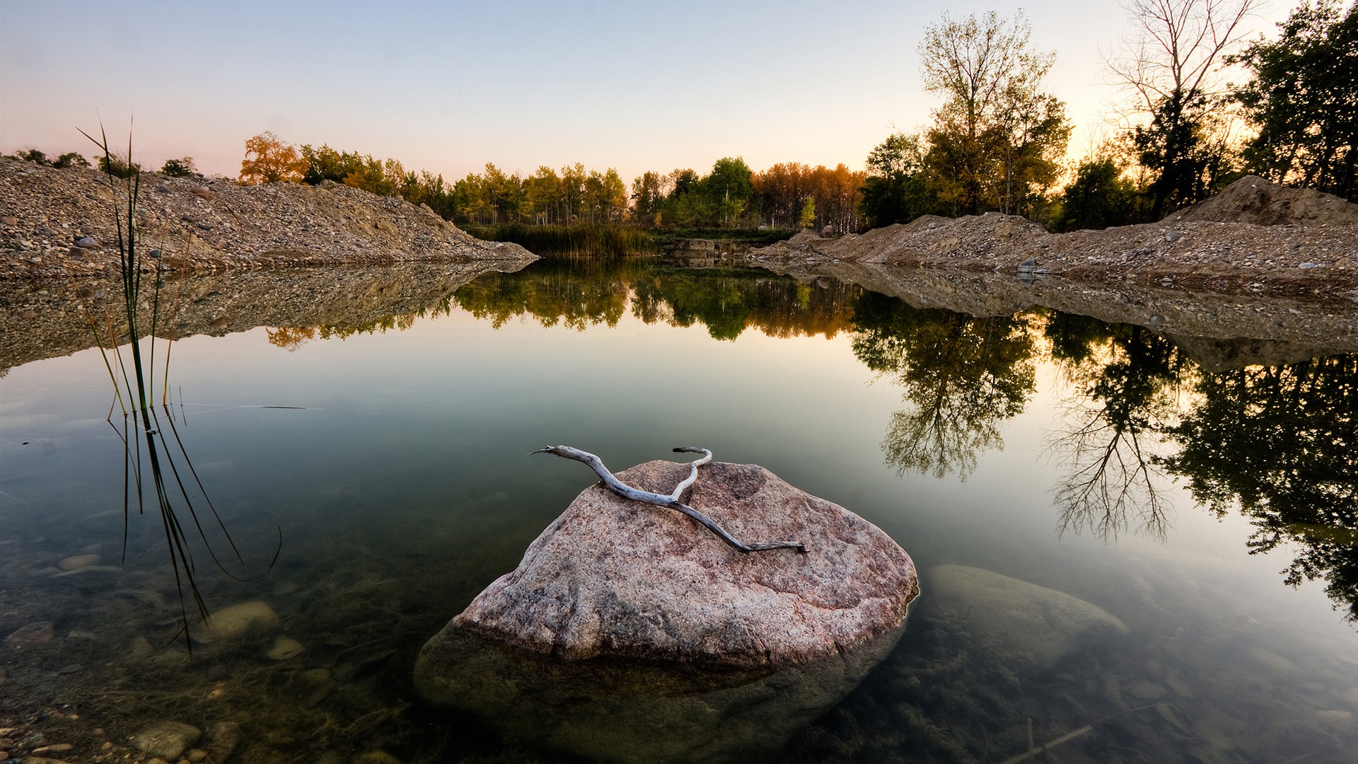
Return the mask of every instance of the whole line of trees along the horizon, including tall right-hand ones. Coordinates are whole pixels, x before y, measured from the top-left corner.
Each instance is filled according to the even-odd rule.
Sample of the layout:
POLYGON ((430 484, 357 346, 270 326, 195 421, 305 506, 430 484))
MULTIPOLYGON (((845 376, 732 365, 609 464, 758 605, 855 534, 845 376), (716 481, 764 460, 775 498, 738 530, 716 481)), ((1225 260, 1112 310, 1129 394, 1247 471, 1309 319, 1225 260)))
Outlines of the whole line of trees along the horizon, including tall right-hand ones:
MULTIPOLYGON (((1054 230, 1158 220, 1245 174, 1353 198, 1358 3, 1302 0, 1274 39, 1245 41, 1244 23, 1258 3, 1131 0, 1131 31, 1104 58, 1122 94, 1108 116, 1111 133, 1073 163, 1066 105, 1043 86, 1055 54, 1033 46, 1020 11, 945 14, 926 27, 921 73, 941 103, 921 128, 888 135, 864 171, 786 162, 756 173, 740 156, 725 156, 708 173, 646 171, 630 188, 614 169, 580 163, 528 175, 488 163, 449 182, 395 159, 293 147, 265 132, 246 141, 240 179, 346 184, 426 204, 460 224, 835 234, 990 211, 1054 230)), ((15 158, 84 162, 37 150, 15 158)), ((171 159, 162 171, 191 174, 193 160, 171 159)))

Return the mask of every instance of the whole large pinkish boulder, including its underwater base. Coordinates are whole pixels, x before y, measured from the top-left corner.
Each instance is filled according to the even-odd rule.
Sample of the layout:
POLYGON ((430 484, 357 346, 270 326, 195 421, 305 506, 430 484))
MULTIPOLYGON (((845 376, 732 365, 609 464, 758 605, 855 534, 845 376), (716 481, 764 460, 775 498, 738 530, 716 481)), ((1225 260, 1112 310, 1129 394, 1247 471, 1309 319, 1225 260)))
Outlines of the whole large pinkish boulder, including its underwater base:
MULTIPOLYGON (((687 465, 618 474, 668 493, 687 465)), ((587 488, 430 639, 416 688, 507 738, 599 761, 751 761, 843 699, 896 644, 910 556, 853 513, 756 465, 712 464, 667 507, 587 488)))

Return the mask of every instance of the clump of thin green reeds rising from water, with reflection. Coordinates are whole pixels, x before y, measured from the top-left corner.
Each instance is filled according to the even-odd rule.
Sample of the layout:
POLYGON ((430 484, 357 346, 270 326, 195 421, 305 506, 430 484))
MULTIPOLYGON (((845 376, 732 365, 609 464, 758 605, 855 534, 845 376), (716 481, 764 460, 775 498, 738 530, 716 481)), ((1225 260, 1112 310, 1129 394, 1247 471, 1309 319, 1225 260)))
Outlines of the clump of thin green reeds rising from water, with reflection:
MULTIPOLYGON (((172 334, 164 341, 163 359, 159 362, 163 371, 159 378, 156 377, 156 340, 158 332, 162 332, 164 326, 160 322, 163 317, 162 288, 164 281, 162 276, 164 265, 160 264, 156 251, 147 257, 139 239, 136 212, 141 190, 141 171, 132 162, 132 136, 130 133, 128 136, 126 156, 117 156, 109 147, 109 136, 102 126, 98 140, 84 131, 80 131, 80 135, 90 139, 103 152, 99 166, 111 192, 110 205, 118 238, 118 275, 122 281, 121 314, 117 318, 106 314, 105 326, 100 330, 92 311, 87 309, 84 313, 90 318, 95 344, 113 382, 114 401, 109 409, 109 424, 118 432, 124 446, 122 556, 126 561, 128 527, 133 504, 137 514, 141 515, 145 511, 145 504, 153 496, 164 527, 175 586, 179 591, 181 631, 175 638, 183 635, 191 651, 191 640, 189 640, 191 620, 186 594, 187 600, 193 600, 194 612, 202 621, 210 619, 210 612, 194 578, 197 567, 193 559, 190 527, 197 532, 198 540, 217 568, 228 576, 239 579, 225 570, 208 541, 204 517, 200 515, 201 508, 206 508, 210 514, 236 563, 244 566, 244 559, 231 538, 225 522, 212 506, 175 426, 175 413, 170 405, 167 383, 172 334), (124 171, 124 169, 126 170, 124 171), (149 284, 145 279, 149 279, 149 284), (145 306, 149 313, 143 309, 145 296, 149 296, 149 305, 145 306), (120 332, 122 321, 126 326, 126 351, 124 351, 122 333, 120 332), (143 348, 143 337, 147 337, 145 348, 143 348), (153 405, 158 382, 160 385, 159 409, 153 405), (114 423, 114 409, 121 409, 121 427, 114 423)), ((170 325, 172 326, 172 321, 170 325)), ((277 551, 274 552, 276 560, 277 551)), ((273 563, 269 567, 272 568, 273 563)))

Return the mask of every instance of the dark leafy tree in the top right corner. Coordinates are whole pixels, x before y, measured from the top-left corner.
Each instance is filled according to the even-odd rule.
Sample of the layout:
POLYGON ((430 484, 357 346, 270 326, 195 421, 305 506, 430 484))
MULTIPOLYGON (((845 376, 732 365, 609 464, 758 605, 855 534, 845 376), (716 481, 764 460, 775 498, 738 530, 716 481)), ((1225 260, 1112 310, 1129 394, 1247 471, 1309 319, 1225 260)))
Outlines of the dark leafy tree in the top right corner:
POLYGON ((1306 1, 1274 42, 1232 58, 1253 79, 1234 99, 1259 129, 1245 169, 1281 184, 1354 198, 1358 193, 1358 5, 1306 1))

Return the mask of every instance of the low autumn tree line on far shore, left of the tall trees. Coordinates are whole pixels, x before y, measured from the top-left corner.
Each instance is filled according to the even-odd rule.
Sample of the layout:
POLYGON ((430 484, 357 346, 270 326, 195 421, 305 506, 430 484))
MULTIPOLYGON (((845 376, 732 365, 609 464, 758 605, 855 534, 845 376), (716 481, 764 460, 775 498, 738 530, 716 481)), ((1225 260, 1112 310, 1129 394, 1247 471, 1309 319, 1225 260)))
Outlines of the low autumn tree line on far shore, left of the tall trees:
POLYGON ((426 204, 444 218, 475 226, 617 226, 680 228, 860 227, 866 175, 845 164, 800 162, 755 173, 744 159, 724 156, 712 171, 646 171, 627 185, 610 167, 559 171, 538 167, 524 177, 486 163, 482 173, 447 182, 443 175, 406 170, 395 159, 375 159, 329 145, 293 147, 265 132, 246 141, 240 179, 247 184, 333 181, 372 193, 426 204))

